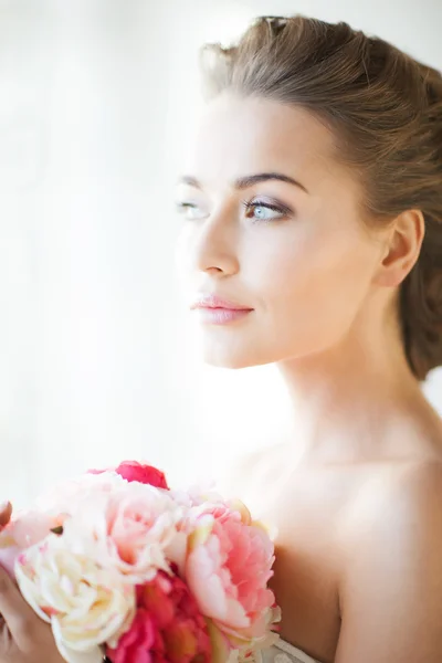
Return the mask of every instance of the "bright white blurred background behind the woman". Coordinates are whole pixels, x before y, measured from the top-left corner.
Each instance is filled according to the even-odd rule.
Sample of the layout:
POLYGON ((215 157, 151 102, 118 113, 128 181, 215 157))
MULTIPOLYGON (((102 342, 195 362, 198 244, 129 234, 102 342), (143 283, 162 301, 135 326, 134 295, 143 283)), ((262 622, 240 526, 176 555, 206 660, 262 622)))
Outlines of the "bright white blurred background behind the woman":
POLYGON ((272 367, 196 357, 172 191, 199 45, 296 12, 442 67, 441 0, 0 0, 0 501, 124 457, 186 482, 284 425, 272 367))

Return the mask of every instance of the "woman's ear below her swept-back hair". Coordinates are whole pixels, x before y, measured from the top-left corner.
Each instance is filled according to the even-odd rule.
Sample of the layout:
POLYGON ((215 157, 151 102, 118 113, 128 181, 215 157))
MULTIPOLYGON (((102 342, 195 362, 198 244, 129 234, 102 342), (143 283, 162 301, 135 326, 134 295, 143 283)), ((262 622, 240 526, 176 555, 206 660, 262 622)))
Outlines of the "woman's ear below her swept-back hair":
POLYGON ((424 234, 425 221, 420 210, 408 210, 394 219, 375 276, 377 285, 397 287, 402 283, 418 261, 424 234))

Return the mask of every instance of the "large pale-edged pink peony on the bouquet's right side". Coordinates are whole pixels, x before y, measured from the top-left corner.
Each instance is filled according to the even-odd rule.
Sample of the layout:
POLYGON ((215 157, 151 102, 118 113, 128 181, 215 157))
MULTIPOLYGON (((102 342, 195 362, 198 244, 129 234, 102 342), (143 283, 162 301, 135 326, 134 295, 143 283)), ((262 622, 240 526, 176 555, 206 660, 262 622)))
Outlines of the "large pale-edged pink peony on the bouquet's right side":
POLYGON ((274 547, 263 527, 244 508, 206 506, 189 536, 185 576, 201 612, 241 646, 269 633, 275 603, 267 582, 274 547))

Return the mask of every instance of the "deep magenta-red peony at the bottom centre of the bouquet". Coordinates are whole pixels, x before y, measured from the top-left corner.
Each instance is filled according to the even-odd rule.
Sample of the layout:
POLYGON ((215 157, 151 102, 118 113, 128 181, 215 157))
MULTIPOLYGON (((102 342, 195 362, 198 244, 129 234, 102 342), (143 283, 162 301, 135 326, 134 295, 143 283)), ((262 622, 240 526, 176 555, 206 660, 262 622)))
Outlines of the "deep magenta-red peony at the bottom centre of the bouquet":
POLYGON ((107 656, 113 663, 211 662, 206 620, 178 576, 159 571, 137 588, 134 622, 107 656))

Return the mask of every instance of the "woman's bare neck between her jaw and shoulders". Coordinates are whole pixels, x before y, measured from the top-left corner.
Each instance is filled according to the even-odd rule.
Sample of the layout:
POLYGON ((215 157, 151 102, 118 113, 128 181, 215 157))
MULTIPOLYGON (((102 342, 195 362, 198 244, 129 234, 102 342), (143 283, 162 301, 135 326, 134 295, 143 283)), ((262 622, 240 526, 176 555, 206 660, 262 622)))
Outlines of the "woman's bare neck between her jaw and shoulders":
POLYGON ((425 407, 401 344, 372 329, 315 356, 286 360, 280 369, 293 403, 296 439, 306 457, 320 462, 379 456, 387 431, 394 429, 400 436, 413 412, 425 407))

